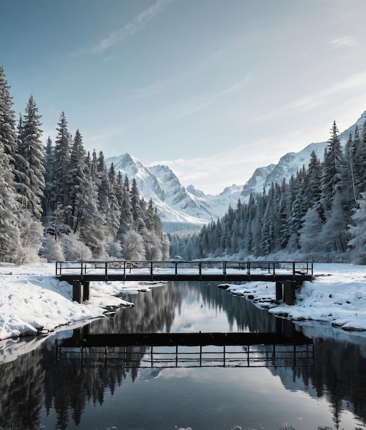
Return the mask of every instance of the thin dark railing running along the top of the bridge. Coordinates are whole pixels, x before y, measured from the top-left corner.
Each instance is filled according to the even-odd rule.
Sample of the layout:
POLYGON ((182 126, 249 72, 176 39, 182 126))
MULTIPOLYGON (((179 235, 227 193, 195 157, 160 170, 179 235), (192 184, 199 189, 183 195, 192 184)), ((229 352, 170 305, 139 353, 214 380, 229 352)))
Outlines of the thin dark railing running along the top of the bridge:
POLYGON ((130 275, 146 273, 158 275, 235 274, 252 275, 256 273, 276 275, 313 276, 313 262, 306 261, 62 261, 56 262, 56 276, 95 275, 130 275))

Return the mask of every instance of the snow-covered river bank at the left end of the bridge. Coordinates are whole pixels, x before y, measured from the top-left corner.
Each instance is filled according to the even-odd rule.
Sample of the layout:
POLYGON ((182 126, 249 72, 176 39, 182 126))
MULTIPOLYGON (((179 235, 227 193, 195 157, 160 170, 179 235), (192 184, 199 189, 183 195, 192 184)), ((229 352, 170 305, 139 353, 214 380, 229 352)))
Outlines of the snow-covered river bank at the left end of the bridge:
POLYGON ((90 299, 73 302, 73 288, 55 276, 55 264, 15 266, 0 263, 0 340, 47 333, 88 319, 106 317, 111 310, 133 306, 117 297, 149 291, 157 283, 93 282, 90 299))

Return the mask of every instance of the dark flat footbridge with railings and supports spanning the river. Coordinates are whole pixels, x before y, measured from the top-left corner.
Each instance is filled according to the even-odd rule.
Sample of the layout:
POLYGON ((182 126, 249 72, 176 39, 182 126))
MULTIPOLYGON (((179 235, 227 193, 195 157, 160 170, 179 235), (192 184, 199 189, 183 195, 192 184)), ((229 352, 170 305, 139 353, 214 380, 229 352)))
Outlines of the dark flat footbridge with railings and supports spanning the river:
POLYGON ((89 299, 95 281, 276 282, 276 300, 295 300, 295 289, 313 279, 305 261, 77 261, 56 262, 56 277, 73 285, 73 300, 89 299))

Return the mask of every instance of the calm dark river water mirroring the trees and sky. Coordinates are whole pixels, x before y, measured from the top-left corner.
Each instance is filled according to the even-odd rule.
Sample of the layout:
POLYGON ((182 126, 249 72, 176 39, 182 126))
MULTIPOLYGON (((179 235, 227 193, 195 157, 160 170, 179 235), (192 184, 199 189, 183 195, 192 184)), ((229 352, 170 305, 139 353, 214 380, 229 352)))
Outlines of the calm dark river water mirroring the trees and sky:
POLYGON ((365 337, 327 326, 334 336, 322 339, 320 328, 309 327, 304 333, 313 342, 298 347, 296 361, 293 346, 226 346, 225 367, 215 361, 223 346, 180 347, 179 354, 169 346, 154 346, 153 354, 147 346, 93 347, 81 354, 77 341, 98 334, 110 342, 128 332, 280 330, 290 338, 294 331, 215 284, 176 282, 129 299, 134 308, 114 319, 27 339, 29 352, 18 359, 10 361, 14 341, 0 343, 0 429, 366 429, 365 337))

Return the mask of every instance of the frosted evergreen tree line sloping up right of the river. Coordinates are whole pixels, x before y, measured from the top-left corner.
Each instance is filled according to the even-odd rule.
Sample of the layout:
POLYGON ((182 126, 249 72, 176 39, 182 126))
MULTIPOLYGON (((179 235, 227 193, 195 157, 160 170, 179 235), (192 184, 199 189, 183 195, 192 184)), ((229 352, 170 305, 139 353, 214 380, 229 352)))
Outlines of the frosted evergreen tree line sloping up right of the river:
POLYGON ((271 183, 204 225, 170 236, 171 253, 195 258, 306 258, 366 263, 366 121, 344 148, 334 121, 320 161, 271 183))

